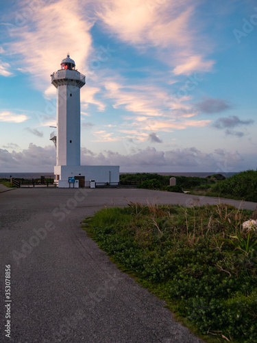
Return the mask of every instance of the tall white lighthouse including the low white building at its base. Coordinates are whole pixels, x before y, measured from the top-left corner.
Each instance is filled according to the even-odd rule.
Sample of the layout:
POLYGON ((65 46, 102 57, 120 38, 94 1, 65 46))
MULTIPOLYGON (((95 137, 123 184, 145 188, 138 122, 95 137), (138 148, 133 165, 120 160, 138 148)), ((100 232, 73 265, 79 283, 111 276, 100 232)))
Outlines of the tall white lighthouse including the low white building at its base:
POLYGON ((80 88, 86 84, 86 77, 75 69, 69 54, 60 66, 51 74, 51 84, 57 92, 57 123, 56 133, 52 132, 50 139, 56 145, 54 178, 58 187, 88 187, 90 180, 119 183, 119 166, 80 165, 80 88))

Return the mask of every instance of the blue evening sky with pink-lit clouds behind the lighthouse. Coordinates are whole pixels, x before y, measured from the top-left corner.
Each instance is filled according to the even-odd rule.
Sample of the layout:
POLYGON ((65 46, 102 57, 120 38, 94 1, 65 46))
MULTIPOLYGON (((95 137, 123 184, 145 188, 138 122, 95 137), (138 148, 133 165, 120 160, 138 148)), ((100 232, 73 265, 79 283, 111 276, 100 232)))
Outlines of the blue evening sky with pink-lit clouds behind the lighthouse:
POLYGON ((53 171, 68 52, 82 165, 256 169, 256 39, 254 0, 1 0, 0 172, 53 171))

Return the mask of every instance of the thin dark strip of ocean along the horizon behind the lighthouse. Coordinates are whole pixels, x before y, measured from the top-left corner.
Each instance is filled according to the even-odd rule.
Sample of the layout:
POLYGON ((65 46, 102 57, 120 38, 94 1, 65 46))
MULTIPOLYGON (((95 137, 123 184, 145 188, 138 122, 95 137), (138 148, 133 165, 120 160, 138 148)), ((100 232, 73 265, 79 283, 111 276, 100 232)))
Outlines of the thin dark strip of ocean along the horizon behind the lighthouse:
MULTIPOLYGON (((141 171, 140 171, 141 172, 141 171)), ((136 172, 122 172, 120 174, 136 174, 136 172)), ((160 175, 167 175, 167 176, 198 176, 199 178, 206 178, 206 176, 209 175, 213 175, 213 174, 222 174, 223 176, 225 176, 225 178, 229 178, 230 176, 233 176, 234 174, 236 174, 235 172, 232 173, 217 173, 217 171, 206 171, 206 172, 173 172, 170 171, 168 172, 156 172, 156 173, 152 173, 152 174, 160 174, 160 175)), ((46 171, 42 171, 42 173, 0 173, 0 178, 10 178, 10 176, 12 176, 13 178, 27 178, 29 180, 32 180, 32 178, 40 178, 41 176, 45 176, 45 178, 53 178, 53 172, 46 172, 46 171)))

